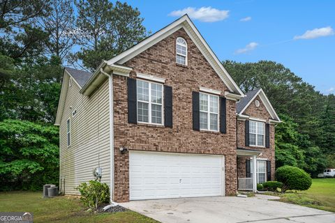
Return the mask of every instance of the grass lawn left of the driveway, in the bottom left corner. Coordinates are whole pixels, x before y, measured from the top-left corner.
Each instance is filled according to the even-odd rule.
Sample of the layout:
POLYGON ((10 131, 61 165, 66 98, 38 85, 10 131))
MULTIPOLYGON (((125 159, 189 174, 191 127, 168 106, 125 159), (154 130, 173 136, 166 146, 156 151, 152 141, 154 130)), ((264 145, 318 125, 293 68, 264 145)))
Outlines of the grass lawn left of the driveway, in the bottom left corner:
POLYGON ((0 212, 29 212, 34 222, 156 222, 133 211, 89 213, 75 197, 43 199, 42 192, 1 192, 0 212))

